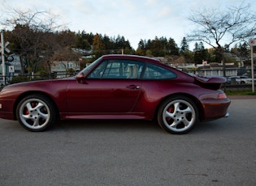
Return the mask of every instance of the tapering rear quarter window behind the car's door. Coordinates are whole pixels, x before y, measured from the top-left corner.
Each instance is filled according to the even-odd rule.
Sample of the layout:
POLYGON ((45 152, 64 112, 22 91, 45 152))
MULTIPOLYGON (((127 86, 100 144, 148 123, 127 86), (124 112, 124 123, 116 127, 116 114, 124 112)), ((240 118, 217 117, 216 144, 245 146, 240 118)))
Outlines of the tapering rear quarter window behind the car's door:
POLYGON ((148 64, 145 68, 143 79, 169 79, 176 78, 176 74, 161 66, 148 64))

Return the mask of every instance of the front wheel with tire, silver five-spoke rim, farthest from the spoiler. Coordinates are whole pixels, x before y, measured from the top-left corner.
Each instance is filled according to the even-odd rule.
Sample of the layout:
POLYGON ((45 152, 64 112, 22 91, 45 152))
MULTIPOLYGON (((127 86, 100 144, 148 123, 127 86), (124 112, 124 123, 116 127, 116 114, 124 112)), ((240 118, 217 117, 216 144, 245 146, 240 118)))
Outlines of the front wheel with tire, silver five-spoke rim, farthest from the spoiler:
POLYGON ((45 95, 28 95, 18 104, 16 116, 24 129, 40 132, 55 122, 56 109, 45 95))

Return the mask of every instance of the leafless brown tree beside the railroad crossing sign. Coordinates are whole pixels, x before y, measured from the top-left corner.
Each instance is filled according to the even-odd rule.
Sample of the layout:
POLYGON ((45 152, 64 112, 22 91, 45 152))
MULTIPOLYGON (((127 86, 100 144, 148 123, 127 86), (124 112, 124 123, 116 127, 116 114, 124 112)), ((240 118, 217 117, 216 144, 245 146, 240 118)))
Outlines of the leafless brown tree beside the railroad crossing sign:
POLYGON ((15 45, 15 53, 20 54, 21 72, 24 74, 24 62, 33 64, 33 70, 40 61, 42 53, 50 50, 53 40, 49 38, 50 32, 54 32, 60 26, 56 24, 56 15, 48 11, 20 11, 9 12, 7 18, 1 20, 1 24, 11 30, 11 41, 15 45))

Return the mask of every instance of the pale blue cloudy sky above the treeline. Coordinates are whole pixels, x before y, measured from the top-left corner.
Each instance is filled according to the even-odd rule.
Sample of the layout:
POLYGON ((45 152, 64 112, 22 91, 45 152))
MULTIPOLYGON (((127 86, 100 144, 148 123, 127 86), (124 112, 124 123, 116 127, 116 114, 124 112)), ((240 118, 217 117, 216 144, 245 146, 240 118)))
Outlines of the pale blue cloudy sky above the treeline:
POLYGON ((59 24, 73 32, 124 36, 133 49, 140 40, 154 40, 156 36, 173 38, 180 47, 183 37, 193 29, 188 19, 193 11, 241 3, 256 11, 252 0, 0 0, 0 16, 12 9, 50 11, 59 16, 59 24))

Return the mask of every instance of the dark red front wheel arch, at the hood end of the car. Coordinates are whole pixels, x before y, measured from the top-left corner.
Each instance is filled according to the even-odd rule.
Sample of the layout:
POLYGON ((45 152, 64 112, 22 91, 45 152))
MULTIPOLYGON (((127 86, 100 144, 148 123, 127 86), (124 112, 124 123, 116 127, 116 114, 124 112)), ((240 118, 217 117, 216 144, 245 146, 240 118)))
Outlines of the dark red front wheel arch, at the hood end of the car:
POLYGON ((50 99, 50 101, 54 104, 54 108, 56 109, 57 113, 58 113, 58 116, 57 116, 57 119, 59 119, 59 108, 56 104, 56 102, 54 101, 54 99, 50 96, 50 95, 47 95, 46 93, 44 92, 41 92, 41 91, 26 91, 24 92, 23 94, 21 94, 16 100, 15 100, 15 104, 14 104, 14 107, 13 107, 13 113, 14 113, 14 117, 15 117, 15 120, 17 120, 17 115, 16 115, 16 111, 17 111, 17 107, 18 107, 18 104, 20 103, 20 101, 22 99, 24 99, 24 97, 28 96, 28 95, 43 95, 43 96, 46 96, 48 99, 50 99))

